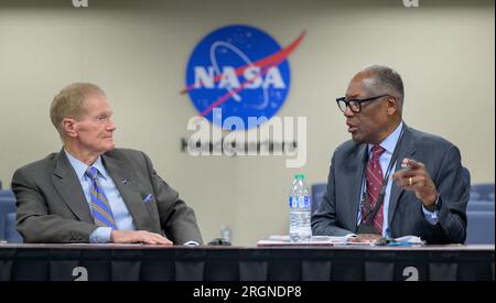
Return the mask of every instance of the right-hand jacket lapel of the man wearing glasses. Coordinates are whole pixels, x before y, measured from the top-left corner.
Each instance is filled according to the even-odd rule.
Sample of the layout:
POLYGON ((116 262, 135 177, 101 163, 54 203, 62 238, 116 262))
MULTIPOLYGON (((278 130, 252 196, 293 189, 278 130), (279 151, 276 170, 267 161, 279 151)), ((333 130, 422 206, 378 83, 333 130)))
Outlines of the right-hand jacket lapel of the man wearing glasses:
MULTIPOLYGON (((395 172, 401 170, 401 161, 405 158, 412 158, 416 153, 416 148, 411 137, 411 129, 405 125, 405 132, 401 145, 398 147, 400 150, 398 151, 398 158, 396 161, 395 172)), ((392 173, 391 173, 392 174, 392 173)), ((388 209, 388 225, 391 225, 392 217, 395 215, 396 207, 398 205, 399 197, 403 193, 405 190, 400 188, 396 183, 391 185, 391 195, 389 197, 389 209, 388 209)))

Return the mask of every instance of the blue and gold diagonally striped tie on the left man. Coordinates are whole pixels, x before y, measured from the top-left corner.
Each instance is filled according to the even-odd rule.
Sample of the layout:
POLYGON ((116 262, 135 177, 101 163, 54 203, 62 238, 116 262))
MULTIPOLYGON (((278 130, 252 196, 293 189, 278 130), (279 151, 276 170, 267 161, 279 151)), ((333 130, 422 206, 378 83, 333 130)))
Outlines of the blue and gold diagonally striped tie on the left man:
POLYGON ((85 174, 91 180, 91 188, 89 192, 91 197, 91 213, 95 224, 98 226, 117 229, 112 209, 110 209, 107 196, 98 182, 98 170, 89 166, 85 174))

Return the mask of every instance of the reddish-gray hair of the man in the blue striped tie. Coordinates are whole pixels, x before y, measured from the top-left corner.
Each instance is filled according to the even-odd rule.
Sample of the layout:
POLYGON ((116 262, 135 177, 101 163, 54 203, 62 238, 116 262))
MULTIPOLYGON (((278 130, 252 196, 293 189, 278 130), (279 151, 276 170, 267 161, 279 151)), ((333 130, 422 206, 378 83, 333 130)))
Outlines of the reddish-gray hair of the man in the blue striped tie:
POLYGON ((85 98, 90 95, 105 96, 105 91, 95 84, 90 83, 73 83, 62 89, 53 98, 50 107, 50 119, 57 129, 62 141, 65 138, 62 121, 64 118, 80 119, 86 115, 85 98))

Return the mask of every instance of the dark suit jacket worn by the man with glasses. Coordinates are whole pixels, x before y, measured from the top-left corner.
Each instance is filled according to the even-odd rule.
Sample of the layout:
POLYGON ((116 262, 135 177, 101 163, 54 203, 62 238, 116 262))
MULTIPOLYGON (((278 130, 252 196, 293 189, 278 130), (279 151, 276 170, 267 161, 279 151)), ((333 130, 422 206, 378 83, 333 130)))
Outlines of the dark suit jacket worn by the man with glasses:
MULTIPOLYGON (((463 244, 470 181, 467 184, 462 177, 460 151, 440 137, 405 127, 396 170, 401 169, 403 158, 425 164, 440 194, 441 208, 438 224, 429 224, 422 212, 422 203, 414 193, 393 184, 387 218, 391 237, 413 235, 429 244, 463 244)), ((365 143, 349 140, 335 150, 331 160, 327 191, 312 216, 313 235, 344 236, 357 231, 360 187, 367 161, 365 143)))

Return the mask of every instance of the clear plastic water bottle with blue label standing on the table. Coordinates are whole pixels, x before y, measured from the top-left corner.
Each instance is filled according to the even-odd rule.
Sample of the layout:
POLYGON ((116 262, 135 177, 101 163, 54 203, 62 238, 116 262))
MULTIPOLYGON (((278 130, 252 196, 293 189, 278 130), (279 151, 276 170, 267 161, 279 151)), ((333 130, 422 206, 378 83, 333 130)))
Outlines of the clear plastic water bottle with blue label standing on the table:
POLYGON ((311 201, 304 174, 295 174, 289 197, 290 240, 292 242, 310 241, 311 201))

